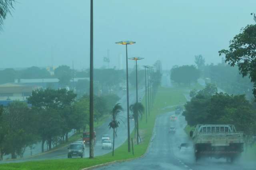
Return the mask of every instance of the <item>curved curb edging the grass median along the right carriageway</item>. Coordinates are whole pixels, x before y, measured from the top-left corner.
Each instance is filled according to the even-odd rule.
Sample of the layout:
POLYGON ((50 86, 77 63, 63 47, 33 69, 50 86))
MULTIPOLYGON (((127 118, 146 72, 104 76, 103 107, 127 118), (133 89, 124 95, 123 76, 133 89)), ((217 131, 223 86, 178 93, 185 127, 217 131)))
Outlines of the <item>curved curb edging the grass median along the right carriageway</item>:
POLYGON ((142 154, 141 156, 139 157, 136 157, 136 158, 129 158, 129 159, 122 159, 122 160, 114 160, 112 162, 107 162, 107 163, 104 163, 104 164, 98 164, 98 165, 94 165, 94 166, 90 166, 88 168, 83 168, 81 170, 93 170, 94 168, 100 168, 102 166, 107 166, 107 165, 110 165, 110 164, 114 164, 114 163, 119 163, 119 162, 126 162, 126 161, 130 161, 130 160, 134 160, 134 159, 139 159, 139 158, 143 158, 147 153, 148 153, 148 150, 149 150, 149 146, 150 144, 152 143, 152 141, 154 140, 154 137, 155 137, 155 126, 156 126, 156 120, 155 120, 155 125, 154 125, 154 129, 153 129, 153 132, 152 132, 152 136, 151 136, 151 139, 148 143, 148 147, 147 147, 147 150, 144 154, 142 154))

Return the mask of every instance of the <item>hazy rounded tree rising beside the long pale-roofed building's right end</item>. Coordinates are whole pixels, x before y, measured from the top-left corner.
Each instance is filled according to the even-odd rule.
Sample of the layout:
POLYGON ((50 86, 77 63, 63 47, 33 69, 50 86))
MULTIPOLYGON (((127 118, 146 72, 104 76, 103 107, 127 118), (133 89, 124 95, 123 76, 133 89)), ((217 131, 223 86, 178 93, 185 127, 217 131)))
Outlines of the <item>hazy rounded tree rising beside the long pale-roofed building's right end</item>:
POLYGON ((70 85, 72 70, 67 65, 61 65, 54 70, 54 75, 59 79, 62 87, 70 85))

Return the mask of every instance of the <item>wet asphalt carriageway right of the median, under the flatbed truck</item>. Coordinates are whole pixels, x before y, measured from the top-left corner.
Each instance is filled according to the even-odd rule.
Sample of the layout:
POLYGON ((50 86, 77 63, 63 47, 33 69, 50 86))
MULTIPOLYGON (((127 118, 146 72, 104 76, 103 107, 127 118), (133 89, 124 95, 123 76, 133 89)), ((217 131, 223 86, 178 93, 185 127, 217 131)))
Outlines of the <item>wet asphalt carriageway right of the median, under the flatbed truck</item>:
MULTIPOLYGON (((163 75, 163 78, 168 75, 163 75)), ((162 80, 162 85, 171 87, 168 80, 162 80)), ((187 99, 189 99, 187 97, 187 99)), ((195 162, 192 141, 184 131, 186 121, 182 115, 176 121, 170 121, 174 112, 159 115, 156 119, 153 140, 148 152, 136 160, 114 163, 96 168, 97 170, 256 170, 256 162, 239 160, 226 163, 225 159, 199 160, 195 162), (168 128, 176 127, 175 134, 169 134, 168 128), (190 143, 191 147, 179 149, 181 143, 190 143)), ((136 151, 135 151, 136 152, 136 151)))

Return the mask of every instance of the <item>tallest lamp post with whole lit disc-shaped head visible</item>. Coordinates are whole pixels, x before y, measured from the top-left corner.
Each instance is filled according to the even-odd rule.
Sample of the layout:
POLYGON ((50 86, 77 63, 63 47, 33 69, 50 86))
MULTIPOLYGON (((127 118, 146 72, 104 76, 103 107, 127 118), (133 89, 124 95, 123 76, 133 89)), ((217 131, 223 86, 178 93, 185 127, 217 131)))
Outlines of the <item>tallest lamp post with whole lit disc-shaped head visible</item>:
POLYGON ((128 54, 127 54, 127 45, 132 45, 136 42, 132 41, 121 41, 116 42, 116 44, 125 45, 126 46, 126 92, 127 92, 127 132, 128 132, 128 152, 131 151, 130 144, 130 115, 129 115, 129 83, 128 83, 128 54))

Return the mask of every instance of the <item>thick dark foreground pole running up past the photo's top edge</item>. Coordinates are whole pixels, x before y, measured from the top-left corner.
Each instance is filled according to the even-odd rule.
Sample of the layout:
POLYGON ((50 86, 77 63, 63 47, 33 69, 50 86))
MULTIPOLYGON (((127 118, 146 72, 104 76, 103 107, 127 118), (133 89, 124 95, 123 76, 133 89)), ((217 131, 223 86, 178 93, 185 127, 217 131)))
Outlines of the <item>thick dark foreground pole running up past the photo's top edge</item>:
POLYGON ((93 0, 91 0, 91 14, 90 14, 90 156, 94 157, 94 127, 93 127, 93 0))

